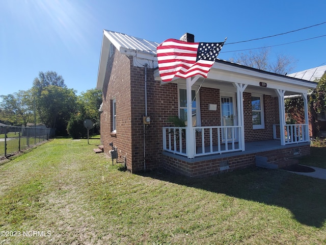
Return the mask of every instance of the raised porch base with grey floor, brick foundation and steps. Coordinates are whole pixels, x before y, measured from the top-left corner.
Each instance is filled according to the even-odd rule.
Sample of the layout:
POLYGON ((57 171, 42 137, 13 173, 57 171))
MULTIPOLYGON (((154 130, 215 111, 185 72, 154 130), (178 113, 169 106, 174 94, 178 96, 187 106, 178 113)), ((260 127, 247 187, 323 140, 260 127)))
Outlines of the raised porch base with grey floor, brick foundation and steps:
POLYGON ((281 168, 297 163, 297 157, 310 155, 310 142, 281 145, 280 140, 245 143, 245 151, 201 155, 189 159, 169 151, 162 153, 164 167, 189 177, 204 177, 246 167, 281 168))

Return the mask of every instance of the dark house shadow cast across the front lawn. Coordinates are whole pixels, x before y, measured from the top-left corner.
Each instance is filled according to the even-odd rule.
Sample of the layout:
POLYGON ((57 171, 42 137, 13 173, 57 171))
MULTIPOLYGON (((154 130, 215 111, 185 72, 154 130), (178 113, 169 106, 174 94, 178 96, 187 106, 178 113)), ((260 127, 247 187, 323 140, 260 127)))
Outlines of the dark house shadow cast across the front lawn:
POLYGON ((326 220, 326 181, 282 170, 251 168, 207 178, 188 178, 165 170, 140 174, 230 197, 290 210, 301 224, 322 227, 326 220))

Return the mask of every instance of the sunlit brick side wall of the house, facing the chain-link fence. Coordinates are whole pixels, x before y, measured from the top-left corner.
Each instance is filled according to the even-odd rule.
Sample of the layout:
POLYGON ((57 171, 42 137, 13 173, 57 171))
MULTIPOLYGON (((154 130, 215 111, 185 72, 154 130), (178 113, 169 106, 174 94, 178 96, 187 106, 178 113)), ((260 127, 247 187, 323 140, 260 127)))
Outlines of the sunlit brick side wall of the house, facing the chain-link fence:
POLYGON ((119 161, 126 160, 131 169, 131 109, 130 59, 114 49, 108 58, 103 83, 103 112, 101 113, 101 141, 104 153, 112 150, 110 142, 118 148, 119 161), (116 134, 112 133, 112 100, 116 99, 116 134))

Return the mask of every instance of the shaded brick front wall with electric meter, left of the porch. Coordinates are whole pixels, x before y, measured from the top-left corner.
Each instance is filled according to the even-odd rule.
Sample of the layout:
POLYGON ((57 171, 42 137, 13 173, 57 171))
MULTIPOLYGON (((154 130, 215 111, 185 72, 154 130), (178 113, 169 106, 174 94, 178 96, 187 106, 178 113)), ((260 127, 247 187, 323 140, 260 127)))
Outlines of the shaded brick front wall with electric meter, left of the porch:
POLYGON ((132 171, 155 169, 161 166, 162 127, 174 126, 168 122, 168 118, 178 115, 177 85, 160 85, 159 81, 154 80, 153 69, 147 68, 147 115, 151 123, 145 125, 145 159, 145 68, 131 67, 131 87, 132 171))

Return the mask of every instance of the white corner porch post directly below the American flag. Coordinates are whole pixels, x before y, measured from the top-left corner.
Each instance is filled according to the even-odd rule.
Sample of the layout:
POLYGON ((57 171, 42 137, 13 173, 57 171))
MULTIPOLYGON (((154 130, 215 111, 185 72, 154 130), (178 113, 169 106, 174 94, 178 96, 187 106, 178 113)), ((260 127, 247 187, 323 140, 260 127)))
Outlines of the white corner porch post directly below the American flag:
POLYGON ((187 130, 186 130, 186 145, 188 158, 195 157, 195 135, 193 127, 193 106, 192 106, 192 86, 199 79, 199 77, 186 79, 187 92, 187 130))

